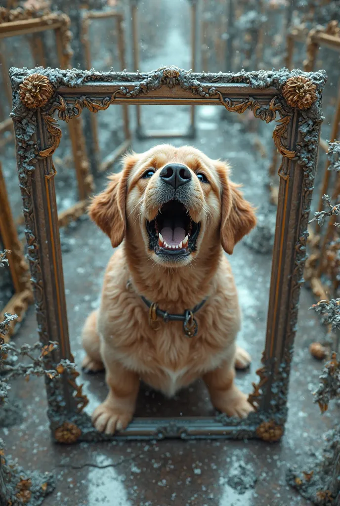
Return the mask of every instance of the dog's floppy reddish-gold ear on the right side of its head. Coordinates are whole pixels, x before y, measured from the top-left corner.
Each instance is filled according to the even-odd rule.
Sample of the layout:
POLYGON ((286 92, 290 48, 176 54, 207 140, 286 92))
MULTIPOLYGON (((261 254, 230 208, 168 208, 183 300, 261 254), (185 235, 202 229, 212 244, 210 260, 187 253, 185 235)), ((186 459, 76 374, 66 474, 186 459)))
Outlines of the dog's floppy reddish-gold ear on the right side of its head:
POLYGON ((221 243, 231 255, 235 244, 256 225, 256 216, 252 205, 239 191, 241 185, 228 180, 228 166, 220 161, 216 166, 222 184, 221 243))

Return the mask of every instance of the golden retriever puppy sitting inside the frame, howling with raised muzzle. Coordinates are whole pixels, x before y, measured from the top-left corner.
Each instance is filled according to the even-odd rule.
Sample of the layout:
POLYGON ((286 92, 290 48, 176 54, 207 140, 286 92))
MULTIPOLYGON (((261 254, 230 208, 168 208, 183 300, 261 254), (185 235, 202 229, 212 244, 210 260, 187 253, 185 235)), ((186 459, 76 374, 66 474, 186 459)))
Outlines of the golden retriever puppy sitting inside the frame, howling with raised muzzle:
POLYGON ((141 379, 173 396, 202 377, 217 409, 247 416, 234 376, 250 356, 235 343, 240 308, 224 251, 256 217, 228 165, 189 146, 127 155, 89 213, 120 245, 82 332, 83 368, 105 368, 109 388, 92 415, 97 430, 129 424, 141 379))

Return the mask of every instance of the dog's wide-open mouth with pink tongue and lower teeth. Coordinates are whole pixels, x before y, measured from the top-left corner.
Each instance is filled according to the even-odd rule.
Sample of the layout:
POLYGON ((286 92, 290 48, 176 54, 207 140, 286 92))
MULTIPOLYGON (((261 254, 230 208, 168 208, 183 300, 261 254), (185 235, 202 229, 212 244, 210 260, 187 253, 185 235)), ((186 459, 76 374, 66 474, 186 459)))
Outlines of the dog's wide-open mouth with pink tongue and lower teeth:
POLYGON ((150 249, 156 255, 172 257, 188 256, 195 251, 199 228, 185 205, 177 200, 166 202, 156 218, 146 222, 150 249))

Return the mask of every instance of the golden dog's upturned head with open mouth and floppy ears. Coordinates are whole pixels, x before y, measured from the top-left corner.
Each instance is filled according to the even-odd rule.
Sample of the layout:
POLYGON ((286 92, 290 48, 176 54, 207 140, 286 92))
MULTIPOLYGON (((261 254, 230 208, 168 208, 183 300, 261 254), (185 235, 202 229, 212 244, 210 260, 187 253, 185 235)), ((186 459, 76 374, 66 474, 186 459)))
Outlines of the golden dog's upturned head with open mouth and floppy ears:
POLYGON ((158 264, 181 266, 198 255, 230 255, 256 225, 252 206, 228 177, 229 167, 198 149, 159 145, 124 158, 94 197, 90 217, 110 237, 142 248, 158 264))

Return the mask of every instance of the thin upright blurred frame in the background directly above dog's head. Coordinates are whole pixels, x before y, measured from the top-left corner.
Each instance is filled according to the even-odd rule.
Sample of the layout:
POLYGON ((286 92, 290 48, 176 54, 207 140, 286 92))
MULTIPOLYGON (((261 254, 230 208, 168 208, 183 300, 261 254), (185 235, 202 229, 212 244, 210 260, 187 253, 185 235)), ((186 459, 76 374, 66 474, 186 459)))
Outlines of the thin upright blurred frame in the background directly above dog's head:
MULTIPOLYGON (((132 23, 132 46, 133 46, 133 65, 136 72, 139 72, 139 38, 137 10, 140 0, 130 0, 130 13, 132 23)), ((198 28, 198 2, 199 0, 187 0, 190 5, 191 20, 191 70, 194 72, 197 67, 197 46, 199 40, 198 28)), ((145 131, 142 125, 141 104, 136 105, 136 135, 139 139, 174 139, 187 138, 193 139, 196 136, 195 106, 190 107, 190 124, 186 132, 182 131, 145 131)))

